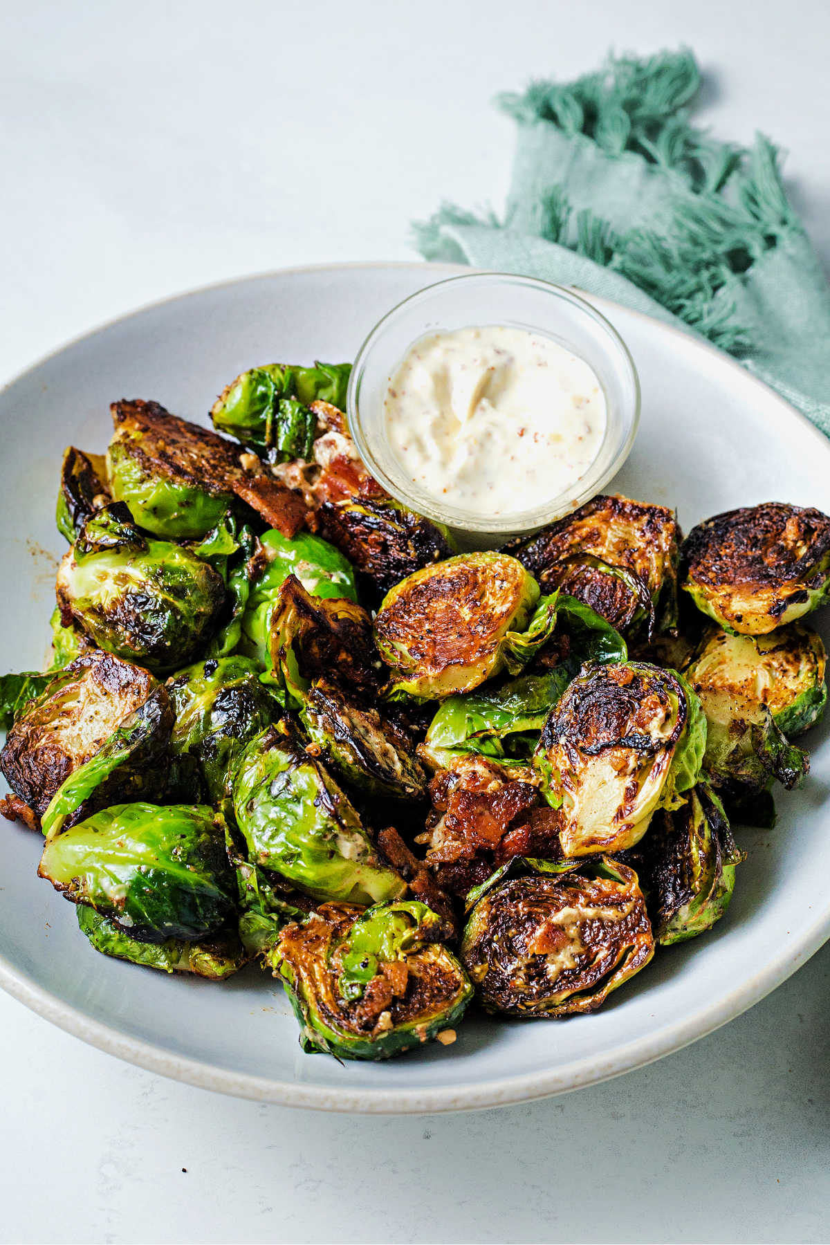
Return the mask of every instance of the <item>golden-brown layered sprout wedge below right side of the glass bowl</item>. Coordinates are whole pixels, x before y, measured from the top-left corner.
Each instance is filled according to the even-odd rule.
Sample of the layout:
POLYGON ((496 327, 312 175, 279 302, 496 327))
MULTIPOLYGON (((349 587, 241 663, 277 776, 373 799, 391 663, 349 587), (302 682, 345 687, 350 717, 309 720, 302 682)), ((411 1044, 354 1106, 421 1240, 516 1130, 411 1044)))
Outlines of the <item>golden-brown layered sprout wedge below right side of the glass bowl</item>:
POLYGON ((678 528, 663 505, 595 497, 504 552, 535 575, 543 593, 560 588, 618 631, 673 626, 677 613, 678 528))

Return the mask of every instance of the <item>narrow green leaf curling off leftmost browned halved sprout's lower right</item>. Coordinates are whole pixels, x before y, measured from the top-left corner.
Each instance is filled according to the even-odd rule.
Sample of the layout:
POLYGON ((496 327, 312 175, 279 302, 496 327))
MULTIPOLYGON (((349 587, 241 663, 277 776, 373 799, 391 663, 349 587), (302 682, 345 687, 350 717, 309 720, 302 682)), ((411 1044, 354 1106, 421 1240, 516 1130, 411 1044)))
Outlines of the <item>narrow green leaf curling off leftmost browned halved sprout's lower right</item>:
POLYGON ((116 801, 161 799, 167 789, 172 730, 173 710, 167 691, 157 687, 95 756, 63 779, 44 813, 46 838, 116 801))

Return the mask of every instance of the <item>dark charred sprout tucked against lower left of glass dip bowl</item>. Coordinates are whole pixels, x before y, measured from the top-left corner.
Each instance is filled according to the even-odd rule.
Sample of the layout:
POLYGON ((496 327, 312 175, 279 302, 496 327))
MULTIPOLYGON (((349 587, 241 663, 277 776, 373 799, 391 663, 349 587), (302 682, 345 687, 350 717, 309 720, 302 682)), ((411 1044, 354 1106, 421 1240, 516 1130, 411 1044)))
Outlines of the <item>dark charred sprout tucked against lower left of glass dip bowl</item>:
POLYGON ((381 593, 454 553, 447 528, 391 498, 326 502, 320 507, 319 523, 326 539, 381 593))

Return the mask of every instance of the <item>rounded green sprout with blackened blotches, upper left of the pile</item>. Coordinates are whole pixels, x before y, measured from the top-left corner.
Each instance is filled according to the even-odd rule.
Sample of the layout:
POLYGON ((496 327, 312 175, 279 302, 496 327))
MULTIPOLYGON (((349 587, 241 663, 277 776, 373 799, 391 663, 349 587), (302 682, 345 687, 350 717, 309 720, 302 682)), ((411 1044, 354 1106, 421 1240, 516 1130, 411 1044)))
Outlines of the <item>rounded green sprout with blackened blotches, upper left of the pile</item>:
POLYGON ((193 660, 225 601, 221 576, 182 545, 141 535, 121 503, 86 522, 57 571, 61 618, 154 674, 193 660))

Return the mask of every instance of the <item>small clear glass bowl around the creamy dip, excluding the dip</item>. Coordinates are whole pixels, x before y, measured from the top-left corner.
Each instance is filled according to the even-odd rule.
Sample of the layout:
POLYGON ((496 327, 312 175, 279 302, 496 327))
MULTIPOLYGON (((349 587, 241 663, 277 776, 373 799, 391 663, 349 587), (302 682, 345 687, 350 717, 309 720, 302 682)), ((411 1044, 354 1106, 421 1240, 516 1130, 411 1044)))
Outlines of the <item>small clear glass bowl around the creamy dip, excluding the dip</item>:
MULTIPOLYGON (((436 523, 452 528, 462 543, 500 544, 534 532, 582 505, 622 467, 640 422, 640 381, 616 329, 571 290, 531 276, 473 273, 452 276, 392 308, 357 352, 348 382, 348 426, 357 452, 392 497, 436 523), (596 372, 606 402, 605 437, 587 471, 566 492, 544 505, 493 515, 472 513, 424 492, 396 459, 386 436, 383 398, 403 356, 419 337, 442 330, 506 325, 543 332, 584 359, 596 372)), ((516 479, 516 502, 521 479, 516 479)))

